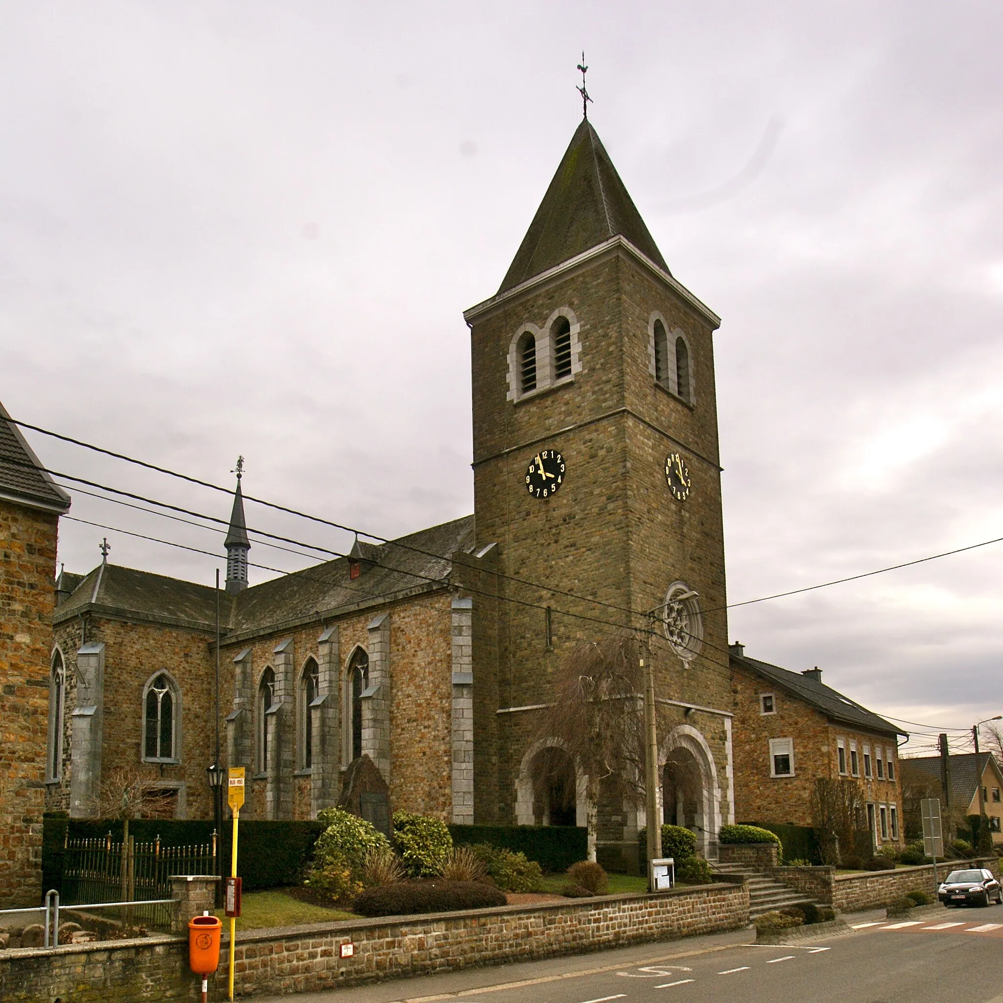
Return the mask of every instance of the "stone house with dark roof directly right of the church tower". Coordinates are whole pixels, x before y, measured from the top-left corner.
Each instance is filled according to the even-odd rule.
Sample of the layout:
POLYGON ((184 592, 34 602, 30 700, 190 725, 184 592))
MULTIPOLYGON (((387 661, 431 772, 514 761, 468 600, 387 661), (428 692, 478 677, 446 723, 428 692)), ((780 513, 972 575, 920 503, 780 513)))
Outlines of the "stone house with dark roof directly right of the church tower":
POLYGON ((729 646, 735 816, 811 824, 819 778, 855 779, 875 849, 904 842, 901 731, 824 685, 817 668, 789 672, 729 646))

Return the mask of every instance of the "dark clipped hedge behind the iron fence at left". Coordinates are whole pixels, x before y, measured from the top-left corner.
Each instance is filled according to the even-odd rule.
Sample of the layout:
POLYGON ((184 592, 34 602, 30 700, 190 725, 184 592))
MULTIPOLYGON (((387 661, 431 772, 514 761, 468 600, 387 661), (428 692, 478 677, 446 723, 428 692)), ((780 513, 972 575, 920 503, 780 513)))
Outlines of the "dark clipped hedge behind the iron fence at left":
MULTIPOLYGON (((230 819, 223 822, 218 849, 223 874, 230 873, 232 829, 230 819)), ((115 819, 69 818, 46 814, 42 824, 42 880, 46 891, 62 885, 63 840, 67 827, 71 840, 101 839, 111 833, 112 841, 122 838, 122 823, 115 819)), ((157 835, 165 847, 210 843, 214 824, 199 818, 133 818, 128 832, 136 843, 152 843, 157 835)), ((244 888, 254 892, 266 888, 298 885, 313 854, 317 838, 324 831, 319 821, 248 820, 240 825, 238 873, 244 888)))

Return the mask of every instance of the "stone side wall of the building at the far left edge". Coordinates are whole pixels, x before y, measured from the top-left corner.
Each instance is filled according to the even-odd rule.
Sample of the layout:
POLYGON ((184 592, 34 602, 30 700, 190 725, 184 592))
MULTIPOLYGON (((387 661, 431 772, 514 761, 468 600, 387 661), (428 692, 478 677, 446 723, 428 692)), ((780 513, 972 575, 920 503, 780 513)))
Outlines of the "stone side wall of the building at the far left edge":
POLYGON ((41 897, 57 523, 0 501, 0 906, 41 897))

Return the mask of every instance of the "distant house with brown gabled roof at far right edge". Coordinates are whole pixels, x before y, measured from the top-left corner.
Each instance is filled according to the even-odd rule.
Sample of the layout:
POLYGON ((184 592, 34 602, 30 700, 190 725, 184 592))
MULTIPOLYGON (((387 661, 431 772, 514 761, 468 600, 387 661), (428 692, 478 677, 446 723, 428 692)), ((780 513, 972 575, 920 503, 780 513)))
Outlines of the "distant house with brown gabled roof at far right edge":
POLYGON ((980 780, 982 813, 989 818, 989 830, 998 846, 1003 844, 1003 771, 992 752, 980 752, 977 758, 974 752, 956 753, 947 756, 946 761, 939 755, 903 759, 905 817, 913 834, 922 834, 920 801, 924 797, 940 798, 944 815, 951 808, 966 817, 979 814, 980 780))

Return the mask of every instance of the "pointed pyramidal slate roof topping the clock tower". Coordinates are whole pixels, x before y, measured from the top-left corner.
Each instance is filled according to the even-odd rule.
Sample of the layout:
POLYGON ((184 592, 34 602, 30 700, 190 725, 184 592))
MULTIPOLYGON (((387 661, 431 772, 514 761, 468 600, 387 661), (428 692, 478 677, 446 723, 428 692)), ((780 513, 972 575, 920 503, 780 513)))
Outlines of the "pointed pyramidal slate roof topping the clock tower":
POLYGON ((617 236, 669 271, 599 135, 583 119, 498 293, 617 236))

